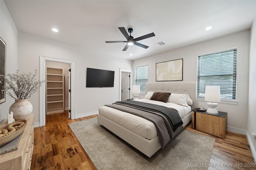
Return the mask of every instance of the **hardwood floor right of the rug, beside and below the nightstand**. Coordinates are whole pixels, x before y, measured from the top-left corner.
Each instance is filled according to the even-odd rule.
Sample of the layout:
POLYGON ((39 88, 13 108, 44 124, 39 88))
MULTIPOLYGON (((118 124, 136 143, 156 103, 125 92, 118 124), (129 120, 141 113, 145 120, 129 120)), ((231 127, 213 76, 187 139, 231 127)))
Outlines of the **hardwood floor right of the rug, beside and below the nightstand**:
POLYGON ((228 132, 222 139, 192 129, 191 123, 185 129, 215 138, 210 160, 210 164, 214 167, 209 167, 208 170, 256 170, 256 164, 245 135, 228 132))

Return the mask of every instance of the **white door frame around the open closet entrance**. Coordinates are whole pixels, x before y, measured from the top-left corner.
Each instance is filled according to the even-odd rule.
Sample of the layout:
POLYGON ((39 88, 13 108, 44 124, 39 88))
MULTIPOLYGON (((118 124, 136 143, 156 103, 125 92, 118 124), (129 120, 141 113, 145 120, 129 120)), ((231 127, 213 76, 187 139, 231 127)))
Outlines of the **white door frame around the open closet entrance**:
MULTIPOLYGON (((68 63, 70 64, 71 72, 71 85, 76 82, 76 62, 64 59, 57 59, 52 57, 44 57, 40 56, 40 80, 46 80, 46 61, 55 61, 59 63, 68 63)), ((71 119, 75 119, 75 86, 71 86, 71 119)), ((46 124, 46 83, 42 83, 40 87, 40 126, 44 126, 46 124)))

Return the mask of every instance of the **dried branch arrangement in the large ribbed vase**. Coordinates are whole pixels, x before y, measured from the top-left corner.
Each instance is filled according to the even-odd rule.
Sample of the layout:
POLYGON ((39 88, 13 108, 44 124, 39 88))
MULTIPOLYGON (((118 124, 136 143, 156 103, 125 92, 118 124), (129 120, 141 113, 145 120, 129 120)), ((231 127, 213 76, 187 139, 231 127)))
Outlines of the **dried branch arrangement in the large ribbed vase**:
POLYGON ((18 74, 18 71, 16 70, 14 74, 7 74, 9 78, 4 78, 4 75, 0 75, 0 83, 3 83, 3 81, 6 83, 5 88, 1 92, 6 92, 15 100, 28 99, 40 89, 41 84, 45 81, 35 79, 37 70, 35 70, 35 74, 31 72, 28 74, 18 74), (14 93, 10 92, 10 90, 14 93))

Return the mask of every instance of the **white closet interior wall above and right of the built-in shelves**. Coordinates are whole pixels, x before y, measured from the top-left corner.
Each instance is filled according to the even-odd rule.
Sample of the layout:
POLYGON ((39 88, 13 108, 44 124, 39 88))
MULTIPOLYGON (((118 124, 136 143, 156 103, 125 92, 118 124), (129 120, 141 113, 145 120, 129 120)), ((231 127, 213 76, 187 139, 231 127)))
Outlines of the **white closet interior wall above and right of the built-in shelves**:
POLYGON ((68 110, 68 68, 70 64, 59 63, 54 61, 46 61, 46 67, 63 68, 64 74, 64 110, 68 110))

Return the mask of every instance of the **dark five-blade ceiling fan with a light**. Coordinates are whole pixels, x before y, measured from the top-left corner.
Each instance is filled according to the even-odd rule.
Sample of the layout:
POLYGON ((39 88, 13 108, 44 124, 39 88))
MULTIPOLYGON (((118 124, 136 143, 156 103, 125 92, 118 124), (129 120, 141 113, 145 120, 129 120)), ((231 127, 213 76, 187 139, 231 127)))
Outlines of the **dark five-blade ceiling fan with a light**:
POLYGON ((128 33, 130 33, 130 36, 128 35, 128 33, 126 32, 125 28, 124 27, 118 27, 121 31, 121 33, 124 35, 124 37, 127 39, 127 41, 105 41, 106 43, 127 43, 126 46, 124 47, 123 51, 126 51, 129 47, 129 45, 137 45, 139 47, 142 47, 144 49, 147 49, 148 46, 146 45, 143 45, 143 44, 140 44, 140 43, 137 43, 137 41, 140 41, 142 39, 146 39, 146 38, 150 38, 150 37, 154 37, 155 34, 154 33, 150 33, 150 34, 147 34, 147 35, 143 35, 141 37, 138 37, 138 38, 133 38, 131 36, 131 33, 133 31, 132 28, 129 28, 128 29, 128 33))

